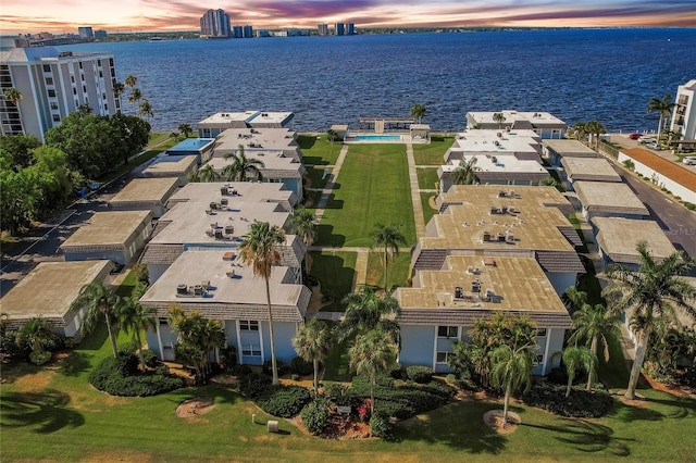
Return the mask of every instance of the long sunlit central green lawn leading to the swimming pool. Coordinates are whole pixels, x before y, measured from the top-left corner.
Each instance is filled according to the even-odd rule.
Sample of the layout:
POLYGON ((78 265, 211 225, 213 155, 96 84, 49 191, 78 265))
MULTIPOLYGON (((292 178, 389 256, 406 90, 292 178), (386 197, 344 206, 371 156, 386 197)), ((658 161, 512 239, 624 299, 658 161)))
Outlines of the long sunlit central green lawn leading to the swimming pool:
POLYGON ((411 247, 415 240, 413 204, 403 145, 352 145, 319 226, 316 245, 372 243, 374 224, 401 224, 411 247))

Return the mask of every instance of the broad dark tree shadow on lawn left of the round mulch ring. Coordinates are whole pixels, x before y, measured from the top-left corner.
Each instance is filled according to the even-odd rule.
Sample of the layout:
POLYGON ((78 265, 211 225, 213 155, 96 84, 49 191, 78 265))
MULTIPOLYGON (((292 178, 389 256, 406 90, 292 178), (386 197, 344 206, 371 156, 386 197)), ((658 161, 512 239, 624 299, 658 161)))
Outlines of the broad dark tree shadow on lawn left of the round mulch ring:
POLYGON ((489 402, 458 402, 405 421, 395 429, 399 440, 443 443, 471 453, 497 455, 508 437, 486 426, 483 415, 501 405, 489 402))

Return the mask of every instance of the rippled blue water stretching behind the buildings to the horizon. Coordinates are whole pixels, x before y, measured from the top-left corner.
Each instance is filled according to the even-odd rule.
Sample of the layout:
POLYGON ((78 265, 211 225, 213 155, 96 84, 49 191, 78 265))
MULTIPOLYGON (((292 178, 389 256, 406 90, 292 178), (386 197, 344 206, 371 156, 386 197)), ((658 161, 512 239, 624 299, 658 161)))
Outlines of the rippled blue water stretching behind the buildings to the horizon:
MULTIPOLYGON (((569 125, 656 129, 650 98, 696 78, 696 29, 573 29, 60 47, 108 51, 134 74, 156 129, 220 111, 294 111, 297 130, 407 116, 458 130, 468 111, 548 111, 569 125)), ((130 105, 124 99, 124 108, 130 105)))

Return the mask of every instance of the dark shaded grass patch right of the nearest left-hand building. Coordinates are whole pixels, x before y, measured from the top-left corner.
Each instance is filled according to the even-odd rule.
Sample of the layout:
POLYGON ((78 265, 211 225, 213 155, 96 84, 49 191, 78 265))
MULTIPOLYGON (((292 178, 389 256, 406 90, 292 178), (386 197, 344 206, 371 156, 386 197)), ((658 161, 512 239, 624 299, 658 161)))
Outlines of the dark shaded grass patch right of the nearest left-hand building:
POLYGON ((310 274, 322 285, 322 295, 331 296, 332 303, 322 308, 322 312, 343 312, 340 304, 344 296, 352 291, 356 277, 355 252, 310 252, 312 268, 310 274))

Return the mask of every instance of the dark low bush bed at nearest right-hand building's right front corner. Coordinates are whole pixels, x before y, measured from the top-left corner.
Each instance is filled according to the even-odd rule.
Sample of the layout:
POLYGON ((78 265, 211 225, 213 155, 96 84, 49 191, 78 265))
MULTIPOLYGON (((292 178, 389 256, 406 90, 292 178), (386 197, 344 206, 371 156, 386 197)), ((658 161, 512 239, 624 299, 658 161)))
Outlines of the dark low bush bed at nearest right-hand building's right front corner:
POLYGON ((522 400, 527 405, 577 418, 604 416, 613 405, 613 398, 607 392, 572 389, 570 397, 566 397, 564 386, 546 380, 536 381, 532 389, 522 396, 522 400))

